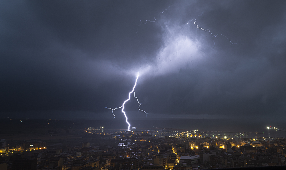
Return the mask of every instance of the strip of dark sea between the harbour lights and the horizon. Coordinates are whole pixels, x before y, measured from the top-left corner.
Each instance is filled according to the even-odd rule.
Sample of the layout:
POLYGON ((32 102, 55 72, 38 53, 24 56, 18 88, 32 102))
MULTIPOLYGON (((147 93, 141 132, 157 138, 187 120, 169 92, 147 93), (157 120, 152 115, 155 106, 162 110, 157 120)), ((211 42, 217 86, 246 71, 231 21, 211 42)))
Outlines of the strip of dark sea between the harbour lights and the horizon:
MULTIPOLYGON (((81 128, 100 127, 104 129, 127 129, 128 124, 124 120, 76 120, 81 128)), ((248 119, 163 119, 163 120, 129 120, 131 127, 137 129, 152 130, 159 128, 174 128, 185 130, 206 131, 232 131, 232 132, 258 132, 263 134, 249 134, 247 137, 286 137, 285 131, 267 129, 267 126, 285 127, 282 120, 279 121, 254 121, 248 119)))

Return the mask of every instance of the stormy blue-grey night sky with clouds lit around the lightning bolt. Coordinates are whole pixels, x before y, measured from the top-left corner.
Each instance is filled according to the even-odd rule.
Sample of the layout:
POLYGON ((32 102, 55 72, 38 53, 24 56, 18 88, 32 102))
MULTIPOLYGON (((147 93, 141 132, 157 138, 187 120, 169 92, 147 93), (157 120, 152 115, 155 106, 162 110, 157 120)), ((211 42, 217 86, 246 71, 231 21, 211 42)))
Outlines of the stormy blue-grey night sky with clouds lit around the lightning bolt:
POLYGON ((0 116, 112 120, 105 107, 122 105, 139 72, 148 115, 131 97, 130 119, 286 118, 285 9, 261 0, 1 1, 0 116))

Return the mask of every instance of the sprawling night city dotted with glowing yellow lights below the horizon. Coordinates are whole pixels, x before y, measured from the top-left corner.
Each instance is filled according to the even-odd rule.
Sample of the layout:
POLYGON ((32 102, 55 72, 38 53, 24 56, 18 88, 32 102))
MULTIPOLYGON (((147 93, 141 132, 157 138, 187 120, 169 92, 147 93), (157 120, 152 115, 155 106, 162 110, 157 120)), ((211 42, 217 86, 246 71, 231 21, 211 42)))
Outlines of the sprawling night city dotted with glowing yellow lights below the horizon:
MULTIPOLYGON (((191 170, 286 165, 286 138, 263 137, 263 132, 160 127, 132 127, 128 131, 104 126, 65 130, 65 126, 58 126, 60 121, 65 126, 75 124, 47 120, 49 130, 36 134, 45 140, 32 136, 31 140, 18 140, 17 134, 0 139, 1 170, 191 170)), ((265 130, 279 129, 265 126, 265 130)))

